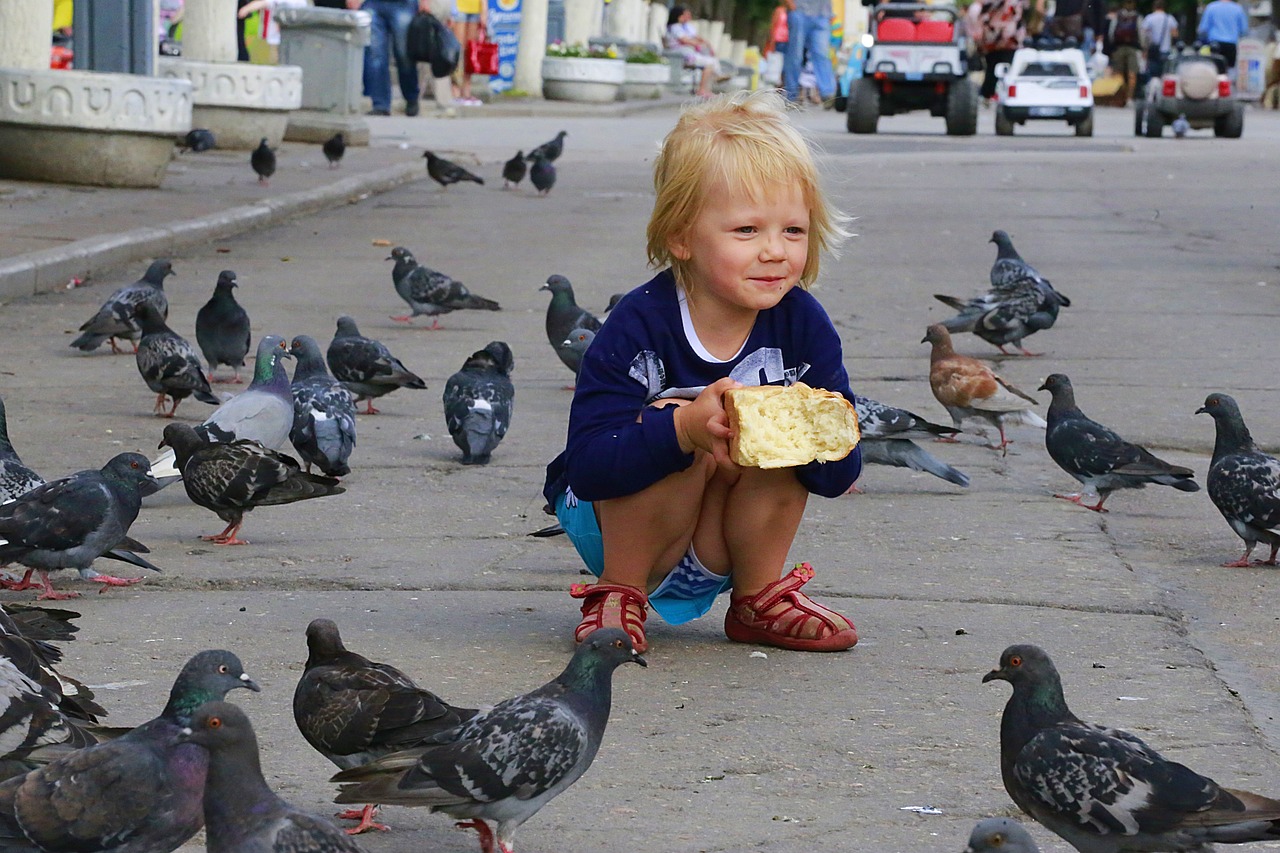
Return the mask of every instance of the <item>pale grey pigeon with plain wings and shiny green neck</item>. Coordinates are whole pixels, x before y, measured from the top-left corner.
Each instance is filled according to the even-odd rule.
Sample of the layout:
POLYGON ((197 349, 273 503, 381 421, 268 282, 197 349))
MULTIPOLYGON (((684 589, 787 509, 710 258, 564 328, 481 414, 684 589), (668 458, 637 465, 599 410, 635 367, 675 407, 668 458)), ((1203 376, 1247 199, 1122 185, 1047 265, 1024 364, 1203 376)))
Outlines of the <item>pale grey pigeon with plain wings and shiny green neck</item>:
MULTIPOLYGON (((280 359, 292 357, 284 338, 268 334, 257 342, 253 380, 205 419, 196 432, 210 442, 229 443, 238 438, 259 442, 268 450, 284 447, 293 429, 293 394, 289 374, 280 359)), ((182 473, 174 466, 173 448, 151 462, 151 474, 163 485, 175 482, 182 473)))

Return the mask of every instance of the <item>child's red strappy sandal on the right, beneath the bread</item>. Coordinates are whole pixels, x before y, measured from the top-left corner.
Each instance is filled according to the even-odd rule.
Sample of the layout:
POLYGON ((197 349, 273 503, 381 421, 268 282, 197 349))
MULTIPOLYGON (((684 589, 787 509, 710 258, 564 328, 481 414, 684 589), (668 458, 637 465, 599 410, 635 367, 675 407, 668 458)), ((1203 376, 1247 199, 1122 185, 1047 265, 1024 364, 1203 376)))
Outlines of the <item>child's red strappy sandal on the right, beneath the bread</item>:
POLYGON ((856 644, 851 621, 800 592, 812 578, 813 566, 801 562, 754 596, 732 596, 724 634, 737 643, 799 652, 840 652, 856 644))

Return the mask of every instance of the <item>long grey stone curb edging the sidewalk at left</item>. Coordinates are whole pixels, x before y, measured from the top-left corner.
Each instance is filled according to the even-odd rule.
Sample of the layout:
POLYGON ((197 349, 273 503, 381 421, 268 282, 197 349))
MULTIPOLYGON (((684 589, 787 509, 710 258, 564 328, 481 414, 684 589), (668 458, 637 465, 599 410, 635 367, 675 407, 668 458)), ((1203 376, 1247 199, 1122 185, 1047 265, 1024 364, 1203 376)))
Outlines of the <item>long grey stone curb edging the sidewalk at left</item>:
POLYGON ((59 291, 72 278, 90 278, 96 272, 123 266, 141 257, 169 255, 186 246, 273 225, 425 178, 420 163, 403 163, 173 225, 87 237, 58 248, 8 257, 0 260, 0 298, 59 291))

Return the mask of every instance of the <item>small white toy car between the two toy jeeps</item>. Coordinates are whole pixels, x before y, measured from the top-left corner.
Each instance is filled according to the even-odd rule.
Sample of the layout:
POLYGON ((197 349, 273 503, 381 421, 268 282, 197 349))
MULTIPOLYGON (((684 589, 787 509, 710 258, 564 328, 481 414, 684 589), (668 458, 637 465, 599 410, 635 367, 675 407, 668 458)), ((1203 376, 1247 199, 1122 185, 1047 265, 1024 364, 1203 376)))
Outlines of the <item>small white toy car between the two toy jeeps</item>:
POLYGON ((996 65, 996 134, 1015 124, 1066 122, 1076 136, 1093 136, 1093 82, 1076 47, 1021 47, 1014 61, 996 65))

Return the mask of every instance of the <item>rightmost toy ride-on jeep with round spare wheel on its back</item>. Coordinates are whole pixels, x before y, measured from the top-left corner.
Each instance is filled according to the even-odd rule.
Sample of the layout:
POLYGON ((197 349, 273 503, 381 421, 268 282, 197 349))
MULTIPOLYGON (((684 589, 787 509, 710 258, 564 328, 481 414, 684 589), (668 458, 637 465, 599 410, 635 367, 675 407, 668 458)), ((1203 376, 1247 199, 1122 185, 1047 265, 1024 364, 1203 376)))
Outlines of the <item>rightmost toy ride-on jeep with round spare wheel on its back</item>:
POLYGON ((1158 138, 1179 117, 1192 128, 1213 128, 1213 136, 1238 140, 1244 133, 1244 104, 1231 95, 1226 61, 1194 49, 1179 47, 1170 55, 1164 77, 1147 83, 1147 97, 1134 110, 1138 136, 1158 138))

